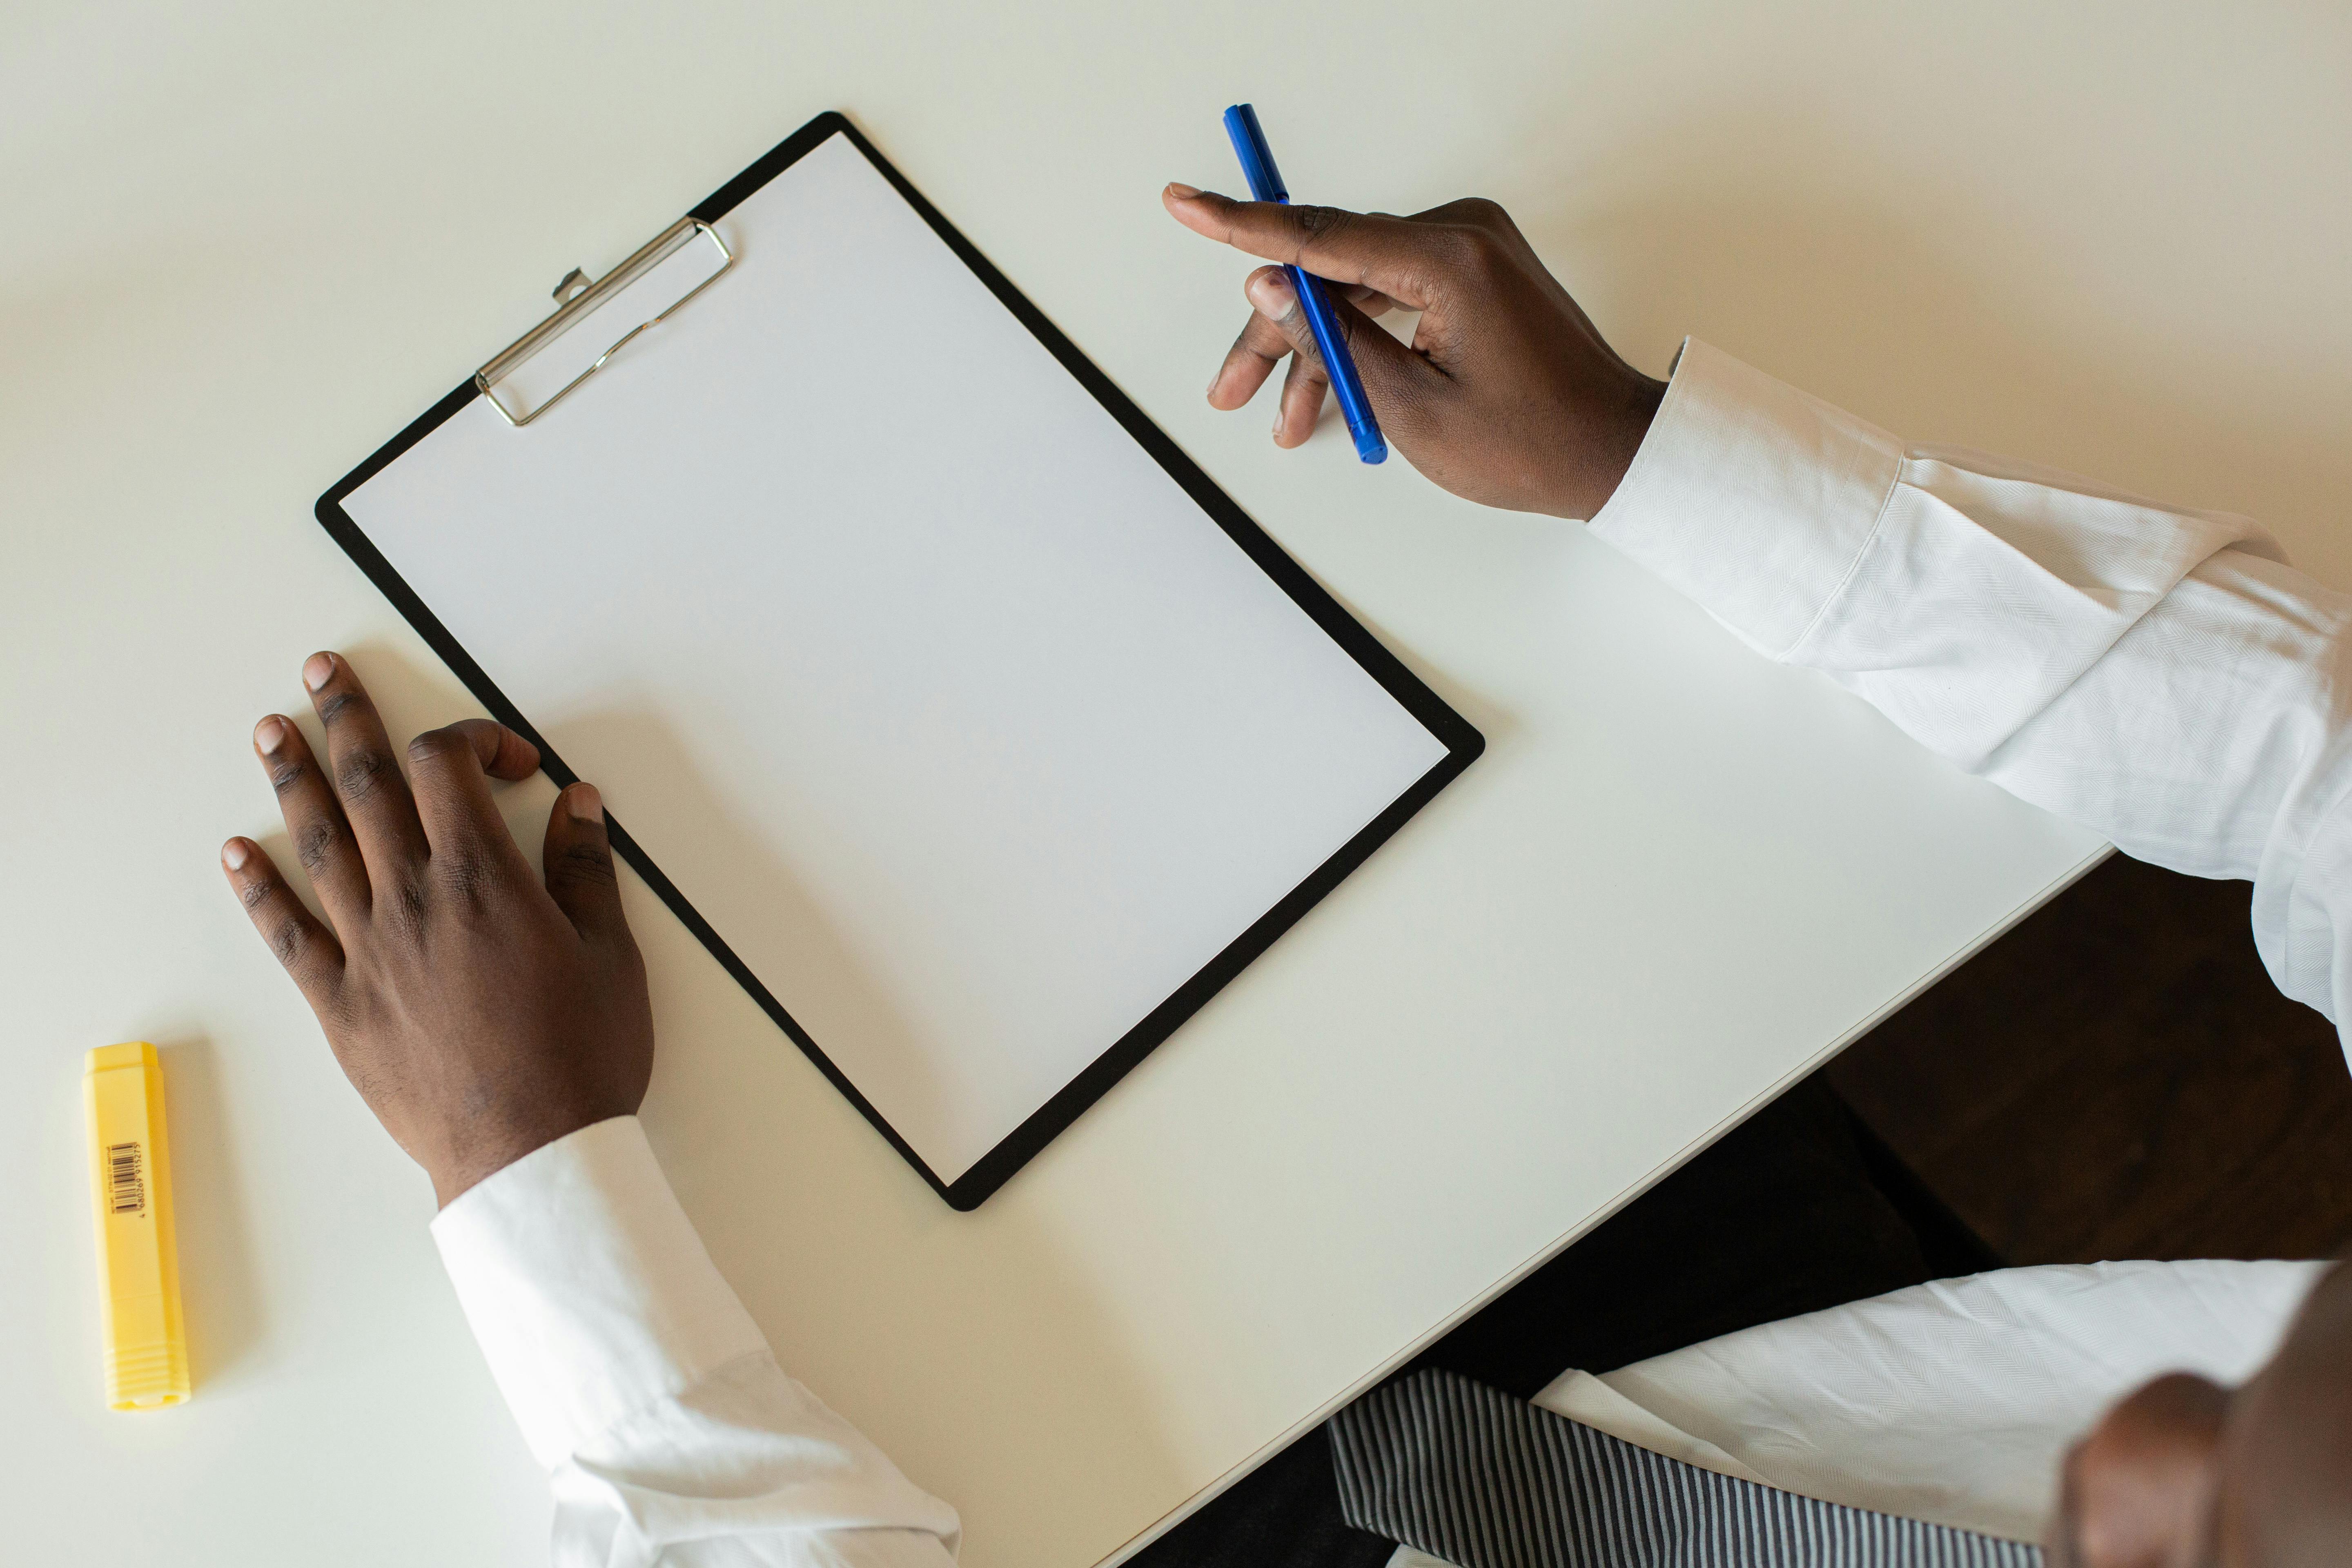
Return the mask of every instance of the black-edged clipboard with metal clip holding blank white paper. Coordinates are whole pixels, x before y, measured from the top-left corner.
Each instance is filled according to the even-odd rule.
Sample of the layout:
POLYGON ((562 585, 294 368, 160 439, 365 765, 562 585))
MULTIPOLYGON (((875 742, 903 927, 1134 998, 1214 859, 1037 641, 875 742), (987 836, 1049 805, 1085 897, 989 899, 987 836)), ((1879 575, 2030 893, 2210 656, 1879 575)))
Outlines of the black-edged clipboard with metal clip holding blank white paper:
POLYGON ((1484 750, 840 113, 555 296, 318 520, 957 1211, 1484 750))

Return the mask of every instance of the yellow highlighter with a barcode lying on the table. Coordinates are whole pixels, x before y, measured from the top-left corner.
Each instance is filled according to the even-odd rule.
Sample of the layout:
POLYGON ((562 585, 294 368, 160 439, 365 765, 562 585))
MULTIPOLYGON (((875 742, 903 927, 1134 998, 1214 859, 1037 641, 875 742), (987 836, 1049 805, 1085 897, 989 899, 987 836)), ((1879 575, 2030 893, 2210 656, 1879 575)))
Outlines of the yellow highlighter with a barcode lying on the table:
POLYGON ((82 1070, 89 1192, 99 1213, 106 1403, 155 1410, 188 1399, 172 1241, 172 1152, 162 1135, 155 1046, 99 1046, 82 1070))

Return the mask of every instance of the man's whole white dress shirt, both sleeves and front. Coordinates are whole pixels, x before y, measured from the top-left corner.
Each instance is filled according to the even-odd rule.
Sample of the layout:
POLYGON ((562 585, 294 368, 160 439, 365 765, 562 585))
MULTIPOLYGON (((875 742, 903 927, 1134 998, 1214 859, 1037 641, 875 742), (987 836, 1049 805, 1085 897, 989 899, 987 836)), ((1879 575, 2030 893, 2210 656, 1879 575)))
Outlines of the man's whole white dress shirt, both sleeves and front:
MULTIPOLYGON (((1691 341, 1592 531, 1957 766, 2143 860, 2251 877, 2279 987, 2347 1016, 2352 599, 2246 520, 1905 447, 1691 341)), ((515 1161, 433 1234, 553 1476, 562 1568, 953 1559, 955 1512, 776 1366, 635 1119, 515 1161)), ((1566 1373, 1543 1403, 1729 1474, 2030 1540, 2100 1406, 2169 1366, 2246 1375, 2314 1267, 1943 1281, 1566 1373)))

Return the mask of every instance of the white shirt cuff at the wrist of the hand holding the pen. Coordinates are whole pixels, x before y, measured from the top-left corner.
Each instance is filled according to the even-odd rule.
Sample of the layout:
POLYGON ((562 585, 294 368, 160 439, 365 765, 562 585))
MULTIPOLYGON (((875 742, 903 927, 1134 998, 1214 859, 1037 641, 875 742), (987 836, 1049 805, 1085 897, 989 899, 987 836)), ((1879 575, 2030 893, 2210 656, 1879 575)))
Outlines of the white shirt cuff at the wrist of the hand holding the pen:
POLYGON ((1846 583, 1900 473, 1886 430, 1684 339, 1592 531, 1780 658, 1846 583))

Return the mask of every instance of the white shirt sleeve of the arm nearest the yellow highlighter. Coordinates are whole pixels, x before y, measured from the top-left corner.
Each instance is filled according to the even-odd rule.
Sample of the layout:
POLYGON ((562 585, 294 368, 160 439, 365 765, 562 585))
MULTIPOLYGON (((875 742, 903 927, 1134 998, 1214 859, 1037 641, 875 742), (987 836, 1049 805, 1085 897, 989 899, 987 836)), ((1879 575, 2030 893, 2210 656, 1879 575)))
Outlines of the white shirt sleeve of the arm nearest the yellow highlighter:
POLYGON ((955 1509, 776 1366, 635 1117, 485 1178, 433 1241, 553 1476, 557 1568, 955 1561, 955 1509))

